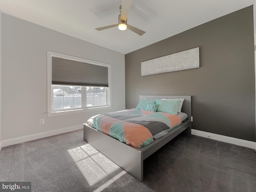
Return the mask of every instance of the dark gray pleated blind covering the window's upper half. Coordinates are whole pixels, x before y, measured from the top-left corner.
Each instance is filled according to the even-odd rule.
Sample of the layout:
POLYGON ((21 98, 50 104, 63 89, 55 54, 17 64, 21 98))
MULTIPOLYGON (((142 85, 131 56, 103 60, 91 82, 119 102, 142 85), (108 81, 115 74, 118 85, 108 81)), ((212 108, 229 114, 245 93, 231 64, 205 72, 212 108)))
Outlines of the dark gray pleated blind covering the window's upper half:
POLYGON ((108 67, 52 56, 52 85, 108 87, 108 67))

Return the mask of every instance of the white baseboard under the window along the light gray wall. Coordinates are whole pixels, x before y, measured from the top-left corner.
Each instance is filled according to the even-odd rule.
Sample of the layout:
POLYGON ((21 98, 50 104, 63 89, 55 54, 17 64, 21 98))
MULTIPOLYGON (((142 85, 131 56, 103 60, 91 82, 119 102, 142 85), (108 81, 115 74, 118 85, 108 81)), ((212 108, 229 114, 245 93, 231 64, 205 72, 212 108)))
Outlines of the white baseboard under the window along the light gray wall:
POLYGON ((26 142, 26 141, 32 141, 32 140, 35 140, 35 139, 41 139, 41 138, 44 138, 44 137, 58 135, 58 134, 61 134, 61 133, 67 133, 67 132, 75 131, 75 130, 78 130, 78 129, 83 129, 83 125, 65 127, 65 128, 62 128, 62 129, 56 129, 56 130, 52 130, 52 131, 46 131, 46 132, 42 132, 42 133, 36 133, 36 134, 32 134, 32 135, 26 135, 26 136, 22 136, 22 137, 16 137, 16 138, 12 138, 12 139, 2 140, 2 142, 0 143, 0 146, 2 144, 2 147, 5 147, 5 146, 12 145, 12 144, 18 144, 18 143, 23 143, 23 142, 26 142))

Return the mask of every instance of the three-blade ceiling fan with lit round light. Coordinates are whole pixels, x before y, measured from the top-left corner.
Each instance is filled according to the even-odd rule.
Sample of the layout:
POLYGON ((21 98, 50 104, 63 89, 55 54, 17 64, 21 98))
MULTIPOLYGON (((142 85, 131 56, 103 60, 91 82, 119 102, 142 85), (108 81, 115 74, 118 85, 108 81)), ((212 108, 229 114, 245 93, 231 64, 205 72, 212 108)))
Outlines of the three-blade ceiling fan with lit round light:
POLYGON ((121 14, 118 15, 118 24, 96 28, 96 30, 101 31, 101 30, 105 30, 105 29, 109 29, 109 28, 118 26, 119 30, 126 30, 126 28, 127 28, 140 36, 142 36, 144 33, 146 33, 134 26, 127 24, 127 16, 130 11, 130 8, 132 6, 132 2, 133 2, 133 0, 122 0, 122 5, 119 7, 119 11, 121 14))

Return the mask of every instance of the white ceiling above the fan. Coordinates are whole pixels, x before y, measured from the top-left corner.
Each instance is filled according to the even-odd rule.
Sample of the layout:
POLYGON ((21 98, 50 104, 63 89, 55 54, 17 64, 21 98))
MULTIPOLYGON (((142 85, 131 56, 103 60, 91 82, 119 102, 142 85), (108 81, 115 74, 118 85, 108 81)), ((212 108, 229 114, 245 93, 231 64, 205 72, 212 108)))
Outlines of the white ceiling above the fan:
POLYGON ((120 53, 130 53, 253 4, 254 0, 134 0, 128 24, 139 36, 117 27, 122 0, 0 0, 2 13, 120 53))

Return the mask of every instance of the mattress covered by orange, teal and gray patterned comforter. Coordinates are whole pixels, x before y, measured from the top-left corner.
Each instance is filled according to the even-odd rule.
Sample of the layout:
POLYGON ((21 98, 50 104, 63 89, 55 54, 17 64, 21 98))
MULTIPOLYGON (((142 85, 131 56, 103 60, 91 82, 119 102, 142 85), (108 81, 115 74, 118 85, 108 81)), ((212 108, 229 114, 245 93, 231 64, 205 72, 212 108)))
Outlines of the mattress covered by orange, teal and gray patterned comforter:
MULTIPOLYGON (((96 115, 87 124, 121 142, 140 148, 150 144, 187 119, 186 113, 173 115, 163 112, 128 109, 96 115)), ((104 143, 102 143, 104 144, 104 143)))

